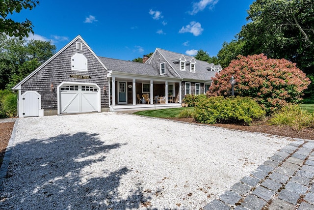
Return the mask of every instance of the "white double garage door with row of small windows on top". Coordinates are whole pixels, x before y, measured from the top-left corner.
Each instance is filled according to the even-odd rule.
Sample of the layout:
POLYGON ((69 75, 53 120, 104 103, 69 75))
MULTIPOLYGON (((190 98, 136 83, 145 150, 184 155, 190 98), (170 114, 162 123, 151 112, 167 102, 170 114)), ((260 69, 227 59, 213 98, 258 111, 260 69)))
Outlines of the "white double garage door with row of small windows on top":
POLYGON ((65 85, 60 87, 60 112, 98 112, 98 88, 90 85, 65 85))

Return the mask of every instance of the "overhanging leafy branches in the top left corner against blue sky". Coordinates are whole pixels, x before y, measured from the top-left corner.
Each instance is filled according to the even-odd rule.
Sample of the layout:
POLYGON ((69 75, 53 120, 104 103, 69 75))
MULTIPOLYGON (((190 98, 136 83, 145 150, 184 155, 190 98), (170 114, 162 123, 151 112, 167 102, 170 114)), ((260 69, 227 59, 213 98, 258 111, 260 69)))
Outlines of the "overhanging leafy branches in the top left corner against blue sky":
POLYGON ((0 1, 0 33, 5 33, 9 36, 16 36, 20 39, 28 37, 28 33, 32 30, 32 23, 26 19, 26 21, 19 23, 12 19, 6 19, 10 14, 14 12, 19 13, 22 9, 33 9, 39 4, 38 0, 1 0, 0 1))

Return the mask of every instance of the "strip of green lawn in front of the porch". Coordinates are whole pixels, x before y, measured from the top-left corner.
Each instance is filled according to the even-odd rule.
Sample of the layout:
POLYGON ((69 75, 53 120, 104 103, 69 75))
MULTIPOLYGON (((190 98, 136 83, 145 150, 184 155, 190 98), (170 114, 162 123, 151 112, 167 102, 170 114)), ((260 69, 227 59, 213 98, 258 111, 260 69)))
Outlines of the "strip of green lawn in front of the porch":
POLYGON ((194 111, 194 107, 182 107, 182 108, 172 108, 172 109, 157 109, 157 110, 146 110, 139 111, 133 114, 135 115, 143 115, 155 118, 179 118, 179 114, 184 109, 190 109, 194 111))

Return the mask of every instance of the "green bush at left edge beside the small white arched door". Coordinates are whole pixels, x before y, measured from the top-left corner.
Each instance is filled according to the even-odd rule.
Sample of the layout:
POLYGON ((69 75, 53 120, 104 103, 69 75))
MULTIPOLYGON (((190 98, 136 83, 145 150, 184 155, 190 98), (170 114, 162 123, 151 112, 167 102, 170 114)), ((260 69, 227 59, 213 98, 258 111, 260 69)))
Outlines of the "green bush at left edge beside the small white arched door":
POLYGON ((17 94, 8 90, 0 90, 0 116, 15 117, 17 115, 17 94))

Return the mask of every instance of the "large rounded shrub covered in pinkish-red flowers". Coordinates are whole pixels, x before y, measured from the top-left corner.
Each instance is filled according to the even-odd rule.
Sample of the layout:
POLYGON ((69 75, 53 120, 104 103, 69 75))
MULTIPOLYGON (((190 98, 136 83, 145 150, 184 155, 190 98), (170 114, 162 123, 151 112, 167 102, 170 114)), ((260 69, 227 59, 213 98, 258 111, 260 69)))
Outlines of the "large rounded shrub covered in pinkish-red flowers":
POLYGON ((255 98, 267 113, 302 100, 302 91, 310 84, 309 78, 288 60, 267 59, 263 54, 238 56, 212 78, 207 95, 230 95, 232 75, 238 95, 255 98))

